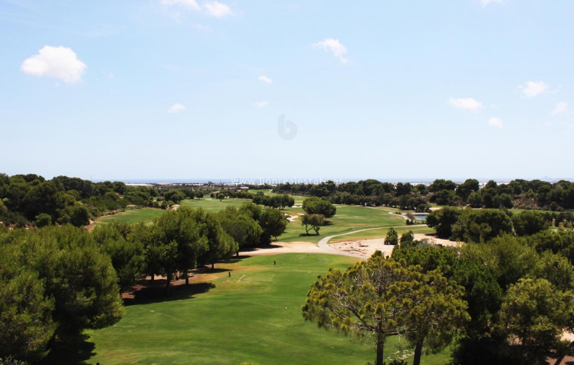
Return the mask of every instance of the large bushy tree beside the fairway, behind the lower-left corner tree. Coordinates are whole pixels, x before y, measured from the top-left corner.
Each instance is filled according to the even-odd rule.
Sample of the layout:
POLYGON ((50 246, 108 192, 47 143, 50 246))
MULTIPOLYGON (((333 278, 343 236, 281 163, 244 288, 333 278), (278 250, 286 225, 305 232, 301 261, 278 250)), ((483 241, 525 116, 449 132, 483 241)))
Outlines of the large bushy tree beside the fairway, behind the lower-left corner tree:
POLYGON ((13 234, 17 265, 37 273, 45 296, 54 298, 56 335, 104 328, 121 319, 114 267, 90 232, 67 225, 13 234))

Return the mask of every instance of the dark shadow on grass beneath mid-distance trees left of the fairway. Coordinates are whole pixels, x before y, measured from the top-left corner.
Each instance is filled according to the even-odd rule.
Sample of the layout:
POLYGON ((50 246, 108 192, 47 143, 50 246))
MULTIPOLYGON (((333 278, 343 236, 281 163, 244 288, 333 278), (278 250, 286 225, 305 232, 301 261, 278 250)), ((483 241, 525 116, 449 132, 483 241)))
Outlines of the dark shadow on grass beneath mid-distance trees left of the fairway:
MULTIPOLYGON (((207 273, 217 273, 229 270, 210 269, 206 271, 207 273)), ((123 304, 125 306, 130 306, 135 304, 149 304, 189 299, 193 298, 193 296, 196 296, 197 294, 207 293, 210 289, 215 288, 215 284, 212 284, 211 282, 198 282, 189 285, 170 285, 169 292, 166 292, 165 284, 165 279, 156 279, 153 282, 142 280, 134 286, 132 292, 125 294, 123 297, 123 304)))

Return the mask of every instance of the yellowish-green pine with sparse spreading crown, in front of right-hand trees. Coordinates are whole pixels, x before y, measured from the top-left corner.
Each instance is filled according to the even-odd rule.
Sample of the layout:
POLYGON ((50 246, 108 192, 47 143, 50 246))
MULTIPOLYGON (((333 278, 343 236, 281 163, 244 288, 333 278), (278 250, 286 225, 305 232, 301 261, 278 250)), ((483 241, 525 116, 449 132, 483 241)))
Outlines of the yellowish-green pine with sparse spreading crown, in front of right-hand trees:
POLYGON ((382 365, 387 337, 418 331, 418 337, 413 333, 409 338, 417 342, 429 339, 432 343, 443 332, 452 332, 456 321, 445 325, 443 332, 433 327, 435 324, 449 322, 446 317, 454 312, 463 316, 464 303, 455 293, 459 289, 447 289, 448 282, 438 271, 432 275, 436 276, 422 274, 420 267, 405 267, 385 259, 381 251, 375 251, 367 261, 356 263, 344 273, 329 269, 327 275, 319 275, 302 306, 303 317, 327 331, 372 343, 377 353, 375 364, 382 365), (444 304, 432 300, 441 292, 447 293, 441 297, 444 304))

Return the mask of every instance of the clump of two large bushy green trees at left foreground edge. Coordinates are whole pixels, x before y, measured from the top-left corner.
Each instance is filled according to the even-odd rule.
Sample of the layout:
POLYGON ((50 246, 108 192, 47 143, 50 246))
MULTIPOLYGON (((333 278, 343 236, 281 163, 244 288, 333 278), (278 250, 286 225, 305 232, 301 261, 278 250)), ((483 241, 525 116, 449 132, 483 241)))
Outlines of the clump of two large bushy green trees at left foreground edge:
POLYGON ((90 232, 69 225, 0 233, 0 298, 0 356, 24 360, 41 359, 55 335, 123 315, 110 258, 90 232))

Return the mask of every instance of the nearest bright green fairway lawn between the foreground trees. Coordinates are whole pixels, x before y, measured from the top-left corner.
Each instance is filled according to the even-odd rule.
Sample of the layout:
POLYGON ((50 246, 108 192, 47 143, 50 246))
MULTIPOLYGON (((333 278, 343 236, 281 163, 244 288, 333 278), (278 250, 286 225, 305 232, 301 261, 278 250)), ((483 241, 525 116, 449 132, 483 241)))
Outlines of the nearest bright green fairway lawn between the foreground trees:
MULTIPOLYGON (((353 262, 335 255, 284 254, 219 264, 215 273, 193 278, 188 288, 172 288, 167 298, 136 299, 117 325, 88 332, 87 341, 52 352, 45 364, 364 365, 374 361, 373 348, 305 323, 301 316, 316 275, 353 262)), ((400 343, 389 337, 385 357, 412 354, 404 339, 400 343)), ((448 359, 445 351, 423 356, 422 364, 448 359)))

